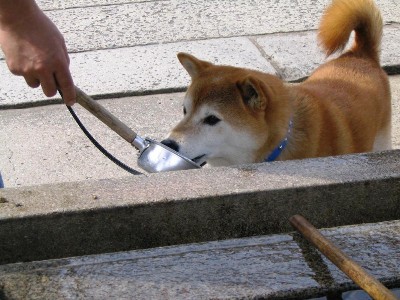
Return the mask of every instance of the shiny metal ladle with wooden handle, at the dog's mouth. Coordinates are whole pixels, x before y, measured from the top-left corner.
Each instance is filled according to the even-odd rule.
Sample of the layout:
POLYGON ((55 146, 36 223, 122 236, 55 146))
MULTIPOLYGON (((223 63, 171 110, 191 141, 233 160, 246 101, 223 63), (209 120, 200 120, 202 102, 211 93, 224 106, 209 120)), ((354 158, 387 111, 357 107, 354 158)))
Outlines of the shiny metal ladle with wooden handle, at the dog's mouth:
POLYGON ((78 87, 76 102, 139 150, 138 165, 150 173, 199 169, 200 165, 150 138, 142 138, 78 87))

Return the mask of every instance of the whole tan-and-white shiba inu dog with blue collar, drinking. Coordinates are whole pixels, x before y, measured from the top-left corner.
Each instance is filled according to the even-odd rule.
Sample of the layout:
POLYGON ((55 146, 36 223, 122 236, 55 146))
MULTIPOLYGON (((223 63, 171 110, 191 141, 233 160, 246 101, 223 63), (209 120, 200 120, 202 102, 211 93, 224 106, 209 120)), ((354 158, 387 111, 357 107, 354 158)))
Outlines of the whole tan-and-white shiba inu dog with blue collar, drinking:
POLYGON ((372 0, 334 0, 319 27, 321 46, 327 55, 343 50, 352 31, 355 41, 299 84, 179 53, 192 82, 184 117, 163 143, 214 166, 390 149, 382 27, 372 0))

